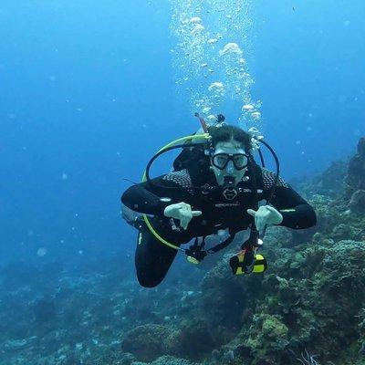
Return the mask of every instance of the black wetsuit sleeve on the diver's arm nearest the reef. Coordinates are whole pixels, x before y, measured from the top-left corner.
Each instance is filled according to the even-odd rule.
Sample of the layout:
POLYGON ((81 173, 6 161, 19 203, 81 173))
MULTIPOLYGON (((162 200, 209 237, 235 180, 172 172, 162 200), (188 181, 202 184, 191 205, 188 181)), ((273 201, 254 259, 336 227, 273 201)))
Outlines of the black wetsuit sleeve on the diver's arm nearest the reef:
MULTIPOLYGON (((275 177, 274 172, 263 171, 264 189, 267 193, 273 186, 275 177)), ((283 222, 278 225, 302 229, 317 224, 317 215, 312 206, 281 178, 278 179, 270 203, 283 215, 283 222)))

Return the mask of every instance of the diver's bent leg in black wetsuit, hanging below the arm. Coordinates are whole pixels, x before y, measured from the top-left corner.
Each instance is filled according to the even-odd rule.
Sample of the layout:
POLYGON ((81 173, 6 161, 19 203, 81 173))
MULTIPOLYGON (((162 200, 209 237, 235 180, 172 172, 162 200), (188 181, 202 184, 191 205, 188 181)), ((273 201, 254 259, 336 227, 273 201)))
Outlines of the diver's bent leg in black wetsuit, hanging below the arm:
MULTIPOLYGON (((154 228, 158 228, 153 225, 154 228)), ((163 236, 163 232, 159 232, 163 236)), ((179 245, 174 242, 175 245, 179 245)), ((156 287, 166 276, 177 250, 162 244, 143 225, 138 235, 135 264, 138 281, 142 287, 156 287)))

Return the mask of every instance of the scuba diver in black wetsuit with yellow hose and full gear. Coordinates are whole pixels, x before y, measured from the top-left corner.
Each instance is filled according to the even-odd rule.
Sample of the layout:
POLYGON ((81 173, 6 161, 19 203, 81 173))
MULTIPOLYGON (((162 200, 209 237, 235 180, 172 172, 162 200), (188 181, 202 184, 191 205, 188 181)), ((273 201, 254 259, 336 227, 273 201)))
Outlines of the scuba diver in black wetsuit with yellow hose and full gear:
POLYGON ((266 259, 257 249, 268 226, 303 229, 317 223, 313 208, 280 178, 275 151, 266 141, 225 124, 223 115, 213 126, 195 116, 203 133, 162 148, 147 165, 143 182, 130 186, 120 199, 124 218, 139 230, 135 266, 142 287, 159 285, 179 250, 199 264, 247 229, 249 238, 230 259, 233 274, 264 272, 266 259), (252 153, 258 142, 273 154, 276 173, 265 168, 260 150, 264 167, 255 162, 252 153), (162 153, 178 148, 183 151, 173 162, 173 171, 151 179, 151 164, 162 153), (205 238, 222 230, 228 238, 206 249, 205 238))

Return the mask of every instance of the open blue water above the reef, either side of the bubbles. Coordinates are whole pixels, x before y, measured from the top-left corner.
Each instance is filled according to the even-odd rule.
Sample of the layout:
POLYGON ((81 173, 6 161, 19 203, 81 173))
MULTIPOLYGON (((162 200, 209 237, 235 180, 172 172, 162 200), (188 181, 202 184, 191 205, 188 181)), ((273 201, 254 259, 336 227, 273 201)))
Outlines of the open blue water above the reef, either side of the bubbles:
MULTIPOLYGON (((174 84, 171 16, 167 1, 1 2, 2 260, 133 251, 122 178, 198 128, 174 84)), ((364 16, 362 0, 252 5, 252 94, 288 180, 347 158, 365 133, 364 16)))

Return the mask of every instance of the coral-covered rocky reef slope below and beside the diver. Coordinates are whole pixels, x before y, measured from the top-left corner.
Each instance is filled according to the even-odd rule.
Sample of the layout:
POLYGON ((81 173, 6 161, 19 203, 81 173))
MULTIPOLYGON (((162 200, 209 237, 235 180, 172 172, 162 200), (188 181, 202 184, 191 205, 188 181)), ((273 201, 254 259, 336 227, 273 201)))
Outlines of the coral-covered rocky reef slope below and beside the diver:
POLYGON ((296 189, 318 225, 271 228, 265 274, 177 261, 139 287, 130 258, 2 269, 0 362, 108 365, 365 363, 365 139, 296 189), (123 264, 121 264, 123 263, 123 264), (122 267, 122 268, 121 268, 122 267))

